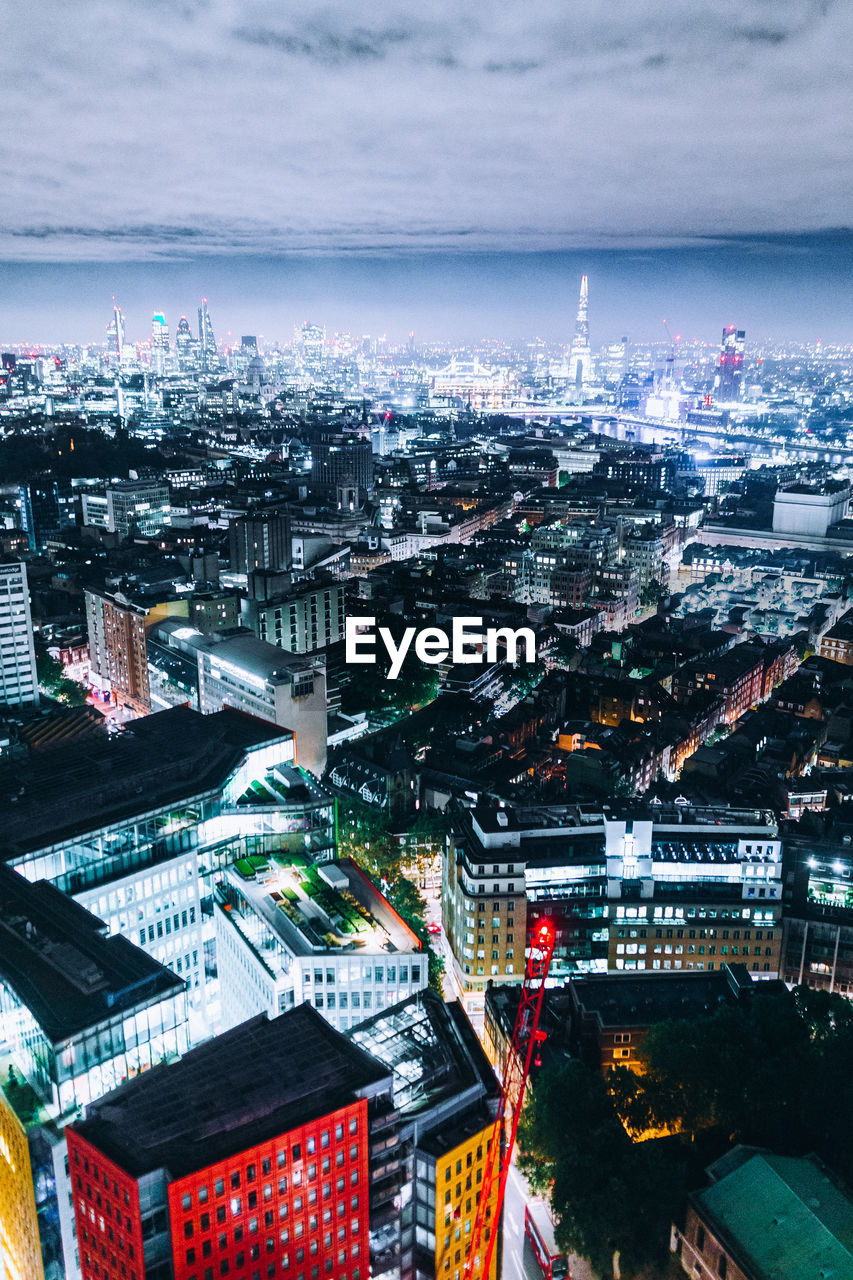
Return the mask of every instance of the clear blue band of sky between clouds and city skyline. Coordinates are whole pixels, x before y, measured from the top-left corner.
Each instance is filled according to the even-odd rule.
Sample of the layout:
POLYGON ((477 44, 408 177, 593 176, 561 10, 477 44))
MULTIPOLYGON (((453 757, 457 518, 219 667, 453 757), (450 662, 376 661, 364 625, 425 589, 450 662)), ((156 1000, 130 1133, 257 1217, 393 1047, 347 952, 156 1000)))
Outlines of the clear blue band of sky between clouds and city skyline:
POLYGON ((104 340, 114 300, 128 340, 146 340, 151 316, 196 328, 207 297, 223 344, 241 333, 287 342, 293 325, 329 333, 415 332, 428 343, 482 338, 570 346, 581 276, 589 276, 592 346, 628 334, 663 342, 666 319, 685 339, 716 343, 727 324, 751 340, 853 343, 850 236, 736 239, 706 250, 576 253, 407 253, 313 259, 188 259, 163 264, 13 264, 4 269, 0 342, 104 340))

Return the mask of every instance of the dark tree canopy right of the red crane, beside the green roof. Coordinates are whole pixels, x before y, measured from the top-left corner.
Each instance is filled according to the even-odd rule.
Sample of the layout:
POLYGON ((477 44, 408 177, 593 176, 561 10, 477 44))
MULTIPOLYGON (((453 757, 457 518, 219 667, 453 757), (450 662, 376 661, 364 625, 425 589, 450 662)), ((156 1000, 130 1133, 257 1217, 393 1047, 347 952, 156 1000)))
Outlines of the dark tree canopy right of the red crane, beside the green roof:
POLYGON ((521 1119, 520 1165, 549 1193, 565 1251, 624 1277, 661 1265, 669 1224, 702 1167, 735 1143, 817 1152, 853 1180, 853 1006, 757 984, 736 1005, 652 1027, 639 1074, 581 1062, 543 1071, 521 1119), (649 1133, 670 1137, 649 1138, 649 1133), (644 1140, 638 1140, 644 1138, 644 1140))

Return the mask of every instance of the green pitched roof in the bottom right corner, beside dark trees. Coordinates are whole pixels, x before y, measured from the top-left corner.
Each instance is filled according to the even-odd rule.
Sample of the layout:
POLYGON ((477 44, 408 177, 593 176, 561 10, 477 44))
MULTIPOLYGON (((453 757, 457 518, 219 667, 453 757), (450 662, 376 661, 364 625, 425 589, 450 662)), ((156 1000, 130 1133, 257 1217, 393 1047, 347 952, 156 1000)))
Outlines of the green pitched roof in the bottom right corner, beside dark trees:
POLYGON ((853 1276, 853 1201, 826 1167, 815 1156, 742 1155, 742 1164, 692 1197, 734 1260, 757 1280, 853 1276))

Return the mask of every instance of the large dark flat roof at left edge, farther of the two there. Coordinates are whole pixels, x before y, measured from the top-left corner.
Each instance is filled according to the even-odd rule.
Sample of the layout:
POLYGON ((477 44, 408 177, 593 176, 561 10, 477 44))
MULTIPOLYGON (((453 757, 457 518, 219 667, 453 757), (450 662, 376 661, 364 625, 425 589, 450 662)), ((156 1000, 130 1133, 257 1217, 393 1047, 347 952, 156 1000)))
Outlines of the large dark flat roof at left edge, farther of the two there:
POLYGON ((222 786, 247 750, 289 730, 227 707, 172 707, 68 748, 0 765, 0 859, 97 831, 222 786))

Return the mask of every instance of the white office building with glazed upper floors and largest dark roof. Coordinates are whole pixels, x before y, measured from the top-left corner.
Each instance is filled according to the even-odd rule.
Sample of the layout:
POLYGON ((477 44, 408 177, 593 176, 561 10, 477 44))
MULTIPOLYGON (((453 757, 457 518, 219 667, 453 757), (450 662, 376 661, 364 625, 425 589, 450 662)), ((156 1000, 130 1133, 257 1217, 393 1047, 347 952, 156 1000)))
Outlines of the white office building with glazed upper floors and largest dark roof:
MULTIPOLYGON (((236 710, 145 716, 120 735, 18 762, 4 852, 20 876, 50 879, 186 980, 191 1036, 209 1036, 214 881, 223 865, 293 841, 304 813, 264 785, 292 763, 292 733, 236 710), (250 803, 255 782, 268 805, 250 803)), ((307 856, 315 837, 318 851, 329 849, 333 832, 319 835, 306 845, 300 833, 307 856)))

